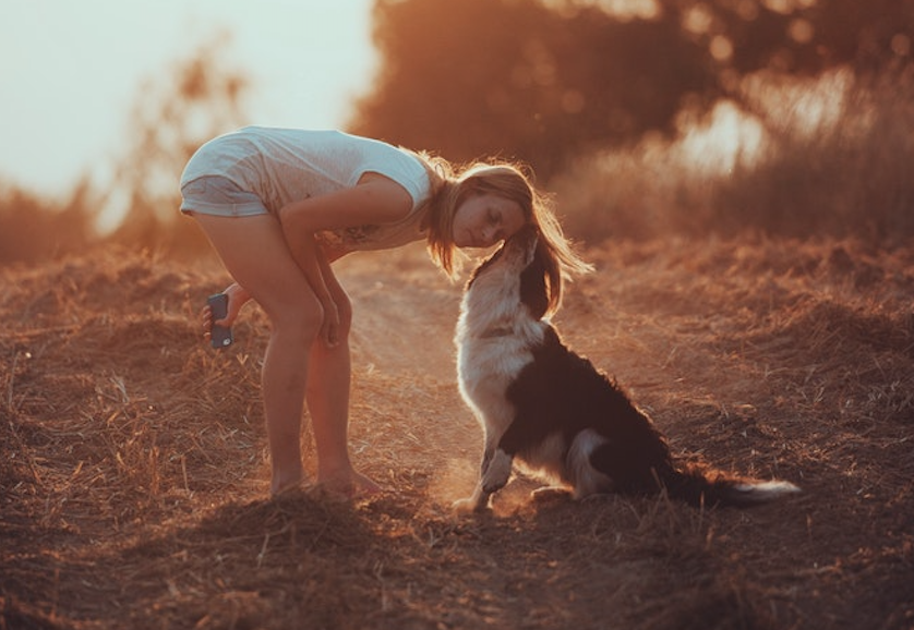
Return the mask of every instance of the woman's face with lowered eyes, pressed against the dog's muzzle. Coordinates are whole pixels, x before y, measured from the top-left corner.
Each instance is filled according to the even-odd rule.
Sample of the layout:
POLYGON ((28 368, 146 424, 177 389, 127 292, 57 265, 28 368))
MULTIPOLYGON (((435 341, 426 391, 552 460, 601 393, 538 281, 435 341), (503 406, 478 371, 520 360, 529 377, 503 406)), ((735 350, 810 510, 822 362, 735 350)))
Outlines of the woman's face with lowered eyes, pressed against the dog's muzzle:
POLYGON ((527 223, 520 204, 493 194, 472 195, 457 207, 450 232, 458 247, 491 247, 527 223))

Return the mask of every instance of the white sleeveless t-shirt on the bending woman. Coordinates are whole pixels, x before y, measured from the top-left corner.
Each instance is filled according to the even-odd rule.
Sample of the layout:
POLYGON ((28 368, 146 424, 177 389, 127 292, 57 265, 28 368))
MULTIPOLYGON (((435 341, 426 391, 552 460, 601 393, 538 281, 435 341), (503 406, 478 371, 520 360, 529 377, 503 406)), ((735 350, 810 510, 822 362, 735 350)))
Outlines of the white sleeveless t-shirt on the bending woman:
POLYGON ((423 239, 420 209, 430 191, 424 165, 409 152, 339 131, 248 126, 221 135, 194 154, 181 185, 224 177, 275 214, 291 202, 352 187, 366 172, 401 185, 412 198, 410 214, 393 223, 320 232, 317 239, 345 250, 383 250, 423 239))

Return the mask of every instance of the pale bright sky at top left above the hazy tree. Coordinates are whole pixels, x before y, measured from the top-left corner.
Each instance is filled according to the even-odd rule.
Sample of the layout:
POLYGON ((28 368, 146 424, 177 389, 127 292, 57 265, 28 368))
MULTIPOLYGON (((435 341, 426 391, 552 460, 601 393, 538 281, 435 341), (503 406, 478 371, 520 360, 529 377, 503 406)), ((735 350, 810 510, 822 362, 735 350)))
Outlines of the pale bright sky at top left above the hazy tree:
POLYGON ((256 124, 340 128, 374 73, 372 0, 2 0, 0 183, 65 194, 117 157, 144 82, 220 33, 256 124))

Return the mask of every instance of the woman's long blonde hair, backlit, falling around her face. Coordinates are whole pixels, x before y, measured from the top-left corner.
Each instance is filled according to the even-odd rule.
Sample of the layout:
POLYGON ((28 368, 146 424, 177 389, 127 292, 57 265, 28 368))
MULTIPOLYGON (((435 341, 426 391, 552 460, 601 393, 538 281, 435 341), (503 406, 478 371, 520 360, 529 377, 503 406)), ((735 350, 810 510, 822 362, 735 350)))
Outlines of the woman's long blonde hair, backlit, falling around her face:
POLYGON ((527 222, 537 227, 540 246, 546 254, 549 313, 558 308, 563 280, 593 270, 574 252, 555 217, 552 201, 536 189, 522 167, 506 161, 476 162, 456 171, 447 160, 418 155, 426 165, 432 184, 425 219, 429 254, 452 279, 459 272, 459 262, 454 259, 454 215, 467 198, 482 194, 516 202, 527 222))

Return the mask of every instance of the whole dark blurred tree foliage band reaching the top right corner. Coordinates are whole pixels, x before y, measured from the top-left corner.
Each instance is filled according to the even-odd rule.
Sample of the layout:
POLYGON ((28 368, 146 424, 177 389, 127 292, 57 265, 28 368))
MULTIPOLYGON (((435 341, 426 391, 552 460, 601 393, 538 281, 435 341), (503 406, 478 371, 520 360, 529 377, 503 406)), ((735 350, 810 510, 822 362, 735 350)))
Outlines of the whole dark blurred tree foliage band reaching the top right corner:
POLYGON ((374 39, 380 73, 353 131, 455 160, 507 154, 549 177, 675 129, 684 109, 738 101, 759 71, 905 63, 914 0, 657 0, 637 17, 594 0, 375 0, 374 39))

